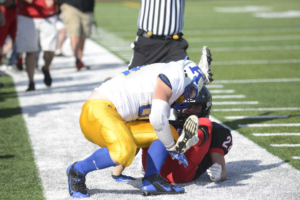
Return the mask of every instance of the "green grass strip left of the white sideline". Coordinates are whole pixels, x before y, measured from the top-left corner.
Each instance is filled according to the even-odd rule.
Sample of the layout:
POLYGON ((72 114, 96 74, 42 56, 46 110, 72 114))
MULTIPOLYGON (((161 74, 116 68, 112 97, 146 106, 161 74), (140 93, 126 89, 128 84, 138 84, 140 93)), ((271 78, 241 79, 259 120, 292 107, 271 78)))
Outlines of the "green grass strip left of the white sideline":
POLYGON ((10 76, 1 75, 0 199, 44 199, 22 110, 10 76))

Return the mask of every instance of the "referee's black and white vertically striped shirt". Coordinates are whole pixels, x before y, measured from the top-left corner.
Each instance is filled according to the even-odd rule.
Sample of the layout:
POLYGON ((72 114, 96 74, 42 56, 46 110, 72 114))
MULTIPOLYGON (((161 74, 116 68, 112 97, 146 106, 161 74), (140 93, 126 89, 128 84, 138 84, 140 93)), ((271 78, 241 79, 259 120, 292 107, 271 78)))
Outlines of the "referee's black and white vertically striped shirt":
POLYGON ((183 28, 184 0, 141 0, 137 26, 154 35, 173 35, 183 28))

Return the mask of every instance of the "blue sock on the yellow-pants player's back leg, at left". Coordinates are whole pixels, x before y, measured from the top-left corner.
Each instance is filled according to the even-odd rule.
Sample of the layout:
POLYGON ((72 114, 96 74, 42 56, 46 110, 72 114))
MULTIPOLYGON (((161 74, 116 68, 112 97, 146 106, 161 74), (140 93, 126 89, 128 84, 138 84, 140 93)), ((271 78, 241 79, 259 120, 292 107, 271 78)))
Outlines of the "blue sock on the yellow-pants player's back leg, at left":
POLYGON ((82 174, 87 174, 88 172, 104 169, 111 166, 117 166, 113 160, 110 158, 110 153, 106 147, 98 149, 91 156, 77 162, 73 169, 82 174))

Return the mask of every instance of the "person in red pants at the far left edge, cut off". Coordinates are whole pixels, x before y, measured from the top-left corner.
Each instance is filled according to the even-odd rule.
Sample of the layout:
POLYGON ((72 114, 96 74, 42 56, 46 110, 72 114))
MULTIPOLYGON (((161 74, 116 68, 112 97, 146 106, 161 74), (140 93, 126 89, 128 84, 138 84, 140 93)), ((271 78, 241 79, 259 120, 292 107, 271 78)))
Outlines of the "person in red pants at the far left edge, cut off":
MULTIPOLYGON (((6 37, 10 35, 12 42, 16 37, 16 4, 14 0, 7 0, 0 5, 1 12, 4 16, 4 21, 2 20, 2 25, 0 28, 0 63, 2 60, 2 48, 5 43, 6 37), (4 22, 4 23, 3 23, 4 22)), ((0 22, 1 24, 1 22, 0 22)), ((9 45, 10 43, 8 43, 9 45)), ((11 44, 12 46, 12 44, 11 44)), ((5 53, 5 52, 4 52, 5 53)))

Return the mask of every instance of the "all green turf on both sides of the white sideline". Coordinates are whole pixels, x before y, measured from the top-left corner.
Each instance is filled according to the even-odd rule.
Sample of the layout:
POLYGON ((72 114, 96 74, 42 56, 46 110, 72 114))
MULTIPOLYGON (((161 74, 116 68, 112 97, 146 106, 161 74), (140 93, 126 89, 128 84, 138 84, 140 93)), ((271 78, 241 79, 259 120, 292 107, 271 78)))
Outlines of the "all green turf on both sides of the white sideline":
MULTIPOLYGON (((211 115, 300 170, 297 159, 300 147, 293 146, 300 144, 300 136, 292 134, 300 133, 300 17, 255 17, 257 14, 251 11, 251 6, 262 8, 261 13, 276 12, 278 17, 288 10, 300 10, 300 2, 291 0, 188 0, 182 31, 189 43, 187 53, 196 63, 202 46, 208 46, 213 54, 211 69, 215 81, 210 88, 214 97, 211 115), (232 7, 247 12, 232 12, 232 7), (285 82, 280 81, 283 78, 285 82), (220 88, 213 88, 217 85, 220 88), (223 95, 244 97, 217 97, 223 95), (218 104, 232 101, 252 104, 218 104), (240 111, 233 111, 236 108, 240 111), (230 118, 258 115, 284 118, 230 118), (241 127, 247 124, 269 126, 241 127), (256 136, 255 133, 277 135, 256 136), (286 146, 279 146, 282 144, 286 146)), ((93 39, 126 62, 132 54, 130 44, 136 38, 139 7, 140 1, 95 4, 98 32, 93 32, 93 39)), ((13 81, 8 76, 0 78, 8 86, 0 89, 0 199, 43 199, 43 187, 13 81)))

